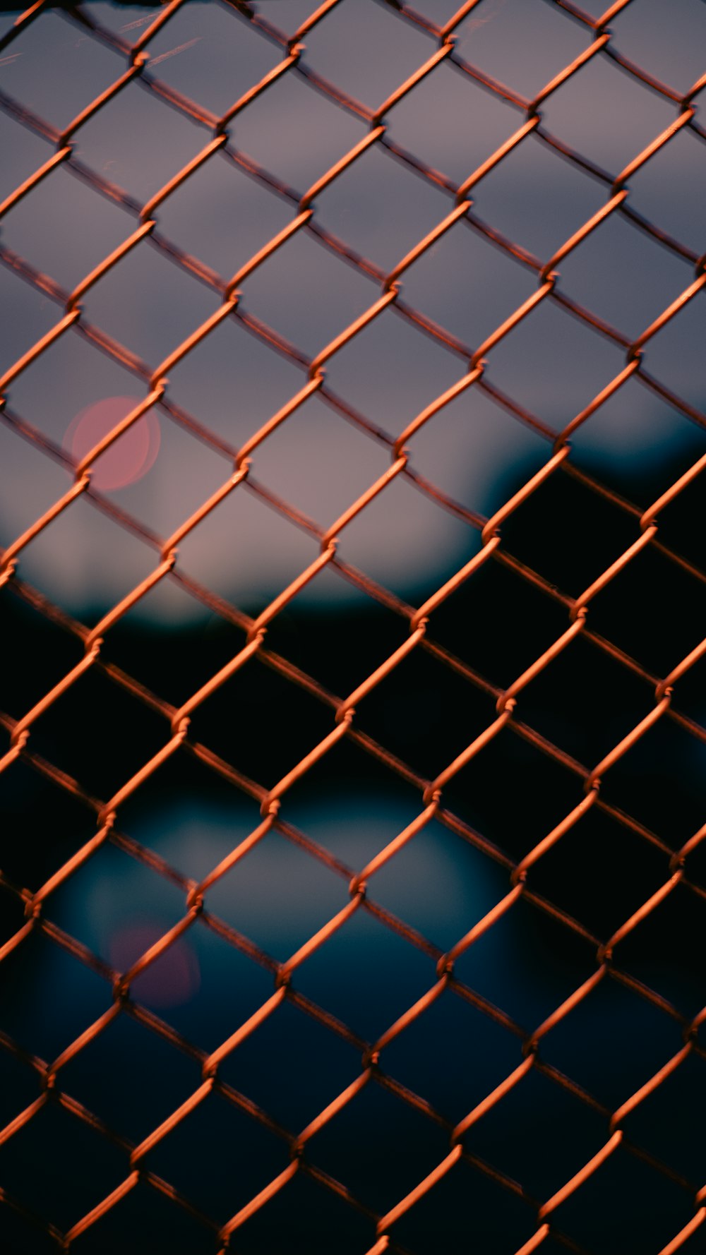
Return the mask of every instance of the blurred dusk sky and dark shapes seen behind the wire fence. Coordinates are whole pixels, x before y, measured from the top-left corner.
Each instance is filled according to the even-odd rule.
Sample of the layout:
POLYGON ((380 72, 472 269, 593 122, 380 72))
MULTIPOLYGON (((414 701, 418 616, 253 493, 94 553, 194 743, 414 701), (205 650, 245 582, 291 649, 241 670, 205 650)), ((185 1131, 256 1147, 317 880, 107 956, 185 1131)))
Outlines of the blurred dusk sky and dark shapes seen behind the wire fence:
MULTIPOLYGON (((455 8, 425 0, 423 15, 443 25, 455 8)), ((593 0, 585 8, 599 16, 593 0)), ((149 41, 152 79, 196 102, 206 118, 220 117, 281 59, 249 13, 293 35, 312 5, 260 0, 245 9, 185 4, 149 41)), ((123 72, 124 58, 90 24, 133 43, 157 13, 107 3, 48 8, 3 49, 0 198, 52 156, 53 133, 43 133, 40 119, 60 134, 123 72)), ((0 33, 15 18, 3 5, 0 33)), ((611 29, 626 58, 677 94, 703 73, 701 0, 634 0, 611 29)), ((524 99, 590 41, 579 21, 545 0, 485 0, 455 34, 460 59, 524 99)), ((376 0, 343 0, 304 43, 303 64, 371 110, 435 49, 421 20, 376 0)), ((677 113, 607 56, 588 61, 541 107, 543 129, 612 177, 677 113)), ((236 316, 168 370, 165 404, 97 463, 92 494, 23 548, 18 579, 0 590, 0 752, 10 744, 8 720, 80 660, 74 621, 94 626, 155 569, 163 540, 227 479, 237 449, 303 387, 308 363, 374 301, 379 276, 452 208, 450 190, 513 134, 523 112, 448 60, 386 120, 386 142, 422 172, 376 144, 317 196, 313 223, 329 246, 314 231, 299 232, 254 271, 236 316), (330 237, 344 241, 353 264, 330 237), (48 616, 43 599, 60 614, 48 616)), ((198 266, 175 265, 163 242, 146 237, 82 299, 82 323, 123 346, 123 361, 78 324, 8 388, 3 546, 70 487, 75 461, 215 311, 220 297, 209 276, 230 279, 368 129, 364 117, 295 73, 237 115, 227 151, 155 215, 160 240, 198 266)), ((207 136, 139 79, 77 131, 72 163, 3 220, 0 371, 57 323, 65 296, 128 236, 142 205, 207 136)), ((337 562, 271 622, 268 650, 343 698, 407 639, 407 607, 421 606, 480 550, 482 522, 546 462, 551 433, 614 378, 626 344, 691 282, 690 259, 703 251, 705 193, 706 146, 683 128, 629 179, 628 198, 683 246, 681 255, 613 215, 558 267, 559 291, 623 339, 558 301, 539 305, 489 354, 489 387, 471 387, 410 439, 417 479, 398 477, 344 530, 337 562)), ((249 479, 180 543, 173 577, 106 634, 102 661, 161 702, 186 702, 245 643, 242 616, 256 617, 317 557, 322 533, 389 466, 391 442, 536 289, 533 259, 549 261, 608 195, 589 169, 528 136, 474 188, 470 220, 405 272, 401 301, 442 328, 446 343, 391 305, 335 353, 324 392, 258 447, 249 479)), ((271 830, 209 891, 209 912, 256 953, 198 921, 131 990, 133 1004, 175 1029, 178 1042, 128 1010, 62 1071, 62 1089, 119 1137, 141 1141, 197 1088, 198 1052, 212 1052, 270 996, 270 960, 285 961, 345 905, 350 876, 420 813, 416 782, 433 779, 492 722, 496 692, 568 626, 567 599, 633 542, 639 513, 705 452, 703 311, 701 292, 646 349, 663 395, 634 376, 575 432, 569 463, 583 478, 564 467, 515 512, 501 547, 516 562, 479 570, 433 614, 428 635, 438 650, 415 650, 361 704, 356 727, 407 764, 408 778, 359 742, 338 742, 283 799, 290 832, 271 830), (681 404, 670 404, 670 392, 681 404), (598 494, 592 479, 611 492, 598 494), (540 579, 528 579, 526 569, 540 579), (447 665, 448 656, 460 665, 447 665)), ((688 567, 648 546, 592 605, 593 631, 637 668, 575 639, 520 698, 518 714, 544 742, 519 735, 513 723, 504 728, 445 789, 465 835, 430 822, 376 873, 369 896, 382 915, 358 911, 295 973, 294 988, 347 1032, 286 999, 222 1064, 222 1079, 278 1128, 300 1132, 359 1076, 361 1044, 433 985, 436 958, 508 892, 508 867, 580 801, 588 771, 652 709, 644 673, 667 675, 702 638, 706 581, 693 570, 703 562, 700 491, 696 479, 660 520, 660 538, 688 567)), ((703 681, 701 663, 675 698, 701 732, 703 681)), ((193 714, 190 739, 269 789, 330 732, 332 715, 320 693, 258 656, 193 714)), ((92 798, 107 799, 168 735, 158 703, 93 668, 33 727, 31 750, 92 798)), ((363 1207, 299 1173, 236 1231, 231 1250, 364 1255, 373 1246, 371 1217, 447 1153, 447 1126, 423 1104, 457 1123, 521 1062, 523 1035, 595 970, 594 940, 606 941, 668 878, 668 851, 703 823, 705 739, 662 719, 606 779, 602 797, 617 814, 594 807, 533 868, 533 890, 584 936, 520 899, 457 963, 475 1000, 446 990, 384 1049, 382 1072, 423 1103, 373 1083, 313 1138, 307 1160, 363 1207), (622 814, 636 821, 632 828, 622 814)), ((3 871, 10 885, 36 891, 92 837, 94 811, 23 758, 0 774, 0 794, 3 871)), ((259 822, 246 789, 183 748, 121 807, 119 840, 103 845, 44 912, 99 958, 103 974, 38 929, 3 964, 3 1124, 40 1092, 21 1052, 52 1062, 94 1023, 112 1004, 111 973, 127 970, 183 916, 188 884, 259 822)), ((688 876, 697 886, 706 885, 702 862, 696 850, 688 876)), ((706 1003, 703 892, 680 885, 621 949, 633 985, 603 980, 543 1040, 541 1059, 575 1082, 575 1093, 533 1069, 474 1126, 469 1157, 394 1225, 391 1250, 511 1255, 528 1241, 536 1205, 604 1145, 606 1113, 676 1054, 683 1024, 706 1003), (639 996, 641 981, 671 1010, 639 996)), ((6 886, 1 900, 4 941, 24 914, 6 886)), ((544 1249, 657 1255, 690 1220, 706 1180, 697 1117, 705 1092, 705 1060, 695 1052, 628 1117, 626 1137, 642 1157, 613 1156, 562 1206, 559 1232, 544 1249)), ((146 1165, 217 1227, 288 1161, 281 1136, 246 1104, 214 1094, 146 1165)), ((0 1185, 60 1232, 127 1171, 121 1146, 57 1103, 0 1150, 0 1185)), ((0 1209, 0 1234, 11 1252, 57 1250, 43 1224, 9 1206, 0 1209)), ((77 1249, 117 1252, 127 1241, 173 1255, 217 1249, 207 1225, 144 1182, 80 1235, 77 1249)), ((685 1251, 706 1249, 700 1241, 696 1235, 685 1251)))

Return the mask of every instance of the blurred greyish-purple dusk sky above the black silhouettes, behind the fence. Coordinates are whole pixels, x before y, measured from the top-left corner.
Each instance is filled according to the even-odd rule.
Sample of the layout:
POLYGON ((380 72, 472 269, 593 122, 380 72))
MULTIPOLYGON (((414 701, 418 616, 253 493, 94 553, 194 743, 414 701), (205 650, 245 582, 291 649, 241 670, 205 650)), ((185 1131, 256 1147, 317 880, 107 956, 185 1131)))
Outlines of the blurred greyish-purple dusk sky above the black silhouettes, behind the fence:
MULTIPOLYGON (((432 20, 453 5, 433 0, 432 20)), ((595 8, 595 6, 594 6, 595 8)), ((265 0, 264 15, 294 28, 299 0, 265 0)), ((137 38, 143 8, 90 5, 123 38, 137 38)), ((700 73, 706 9, 641 0, 612 26, 616 45, 677 90, 700 73)), ((531 95, 587 46, 587 34, 551 5, 489 0, 456 31, 457 51, 520 94, 531 95)), ((348 0, 305 40, 305 64, 376 107, 431 53, 433 43, 373 0, 348 0)), ((187 5, 156 36, 151 73, 207 109, 222 112, 279 60, 279 50, 219 5, 187 5)), ((53 125, 65 125, 121 72, 116 54, 60 14, 31 25, 5 58, 3 90, 53 125)), ((549 132, 617 174, 676 115, 668 100, 595 58, 543 107, 549 132)), ((521 123, 521 112, 441 64, 389 114, 389 137, 452 181, 472 172, 521 123)), ((284 75, 231 124, 231 143, 301 195, 367 131, 304 79, 284 75)), ((75 156, 138 203, 206 142, 207 133, 137 83, 77 133, 75 156)), ((50 154, 49 144, 0 110, 6 195, 50 154)), ((706 195, 703 144, 676 136, 629 182, 629 205, 698 251, 706 195), (673 196, 678 182, 680 195, 673 196)), ((474 190, 474 213, 541 261, 604 203, 604 184, 529 136, 474 190)), ((315 222, 384 271, 452 207, 452 198, 379 147, 369 149, 315 200, 315 222)), ((294 216, 295 208, 216 154, 156 212, 160 233, 224 277, 232 275, 294 216)), ((131 217, 58 168, 8 215, 3 246, 70 290, 133 228, 131 217)), ((632 223, 612 216, 559 267, 559 289, 636 338, 690 282, 692 266, 632 223)), ((60 307, 4 266, 11 307, 3 369, 57 321, 60 307)), ((471 350, 536 287, 536 276, 459 222, 402 279, 402 299, 471 350)), ((301 353, 315 355, 376 299, 377 284, 300 232, 242 284, 241 307, 301 353)), ((85 319, 152 369, 217 306, 217 296, 143 241, 87 294, 85 319)), ((695 405, 703 402, 703 295, 648 346, 651 373, 695 405)), ((544 302, 490 354, 487 379, 557 430, 618 373, 624 351, 565 310, 544 302)), ((460 379, 462 356, 387 309, 327 364, 327 384, 391 437, 460 379)), ((239 447, 305 382, 304 373, 226 321, 170 370, 168 398, 230 447, 239 447)), ((74 331, 9 389, 9 405, 72 452, 80 415, 100 423, 144 395, 143 384, 74 331), (116 403, 114 398, 119 398, 116 403), (132 399, 132 402, 131 402, 132 399), (113 407, 111 409, 111 405, 113 407), (97 413, 94 412, 97 407, 97 413), (93 414, 93 418, 92 418, 93 414)), ((113 418, 114 422, 114 418, 113 418)), ((155 412, 144 439, 117 448, 127 459, 111 498, 166 536, 227 478, 227 457, 155 412), (157 444, 158 443, 158 448, 157 444), (147 441, 147 443, 149 443, 147 441)), ((124 442, 134 438, 128 435, 124 442)), ((84 442, 87 437, 84 434, 84 442)), ((73 449, 85 452, 85 443, 73 449)), ((616 477, 654 467, 668 452, 688 457, 698 432, 629 380, 574 438, 580 464, 616 477)), ((60 496, 67 472, 0 428, 1 540, 10 542, 60 496)), ((464 506, 485 513, 548 457, 545 441, 470 389, 410 444, 411 464, 464 506)), ((328 527, 389 464, 389 451, 313 397, 255 453, 251 474, 328 527)), ((106 463, 108 466, 108 463, 106 463)), ((99 487, 100 482, 95 481, 99 487)), ((340 540, 340 555, 410 600, 440 582, 477 546, 477 533, 408 482, 397 481, 340 540), (384 542, 381 543, 381 537, 384 542)), ((271 597, 317 553, 261 499, 236 491, 180 551, 204 584, 244 607, 271 597)), ((26 579, 74 611, 97 612, 151 569, 153 555, 85 501, 77 501, 21 556, 26 579)), ((354 591, 328 572, 305 596, 318 602, 354 591)), ((193 604, 163 587, 134 614, 180 620, 193 604)))

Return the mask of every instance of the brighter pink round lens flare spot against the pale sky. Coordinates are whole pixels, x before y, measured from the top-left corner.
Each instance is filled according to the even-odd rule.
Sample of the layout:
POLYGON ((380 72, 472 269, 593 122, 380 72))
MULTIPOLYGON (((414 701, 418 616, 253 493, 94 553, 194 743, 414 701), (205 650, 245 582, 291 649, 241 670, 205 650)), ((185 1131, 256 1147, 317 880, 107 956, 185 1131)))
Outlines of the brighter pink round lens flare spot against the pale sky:
MULTIPOLYGON (((139 397, 104 397, 87 405, 70 422, 64 446, 80 462, 141 402, 139 397)), ((136 483, 155 464, 160 452, 160 420, 153 409, 138 418, 90 468, 92 484, 113 492, 136 483)))

